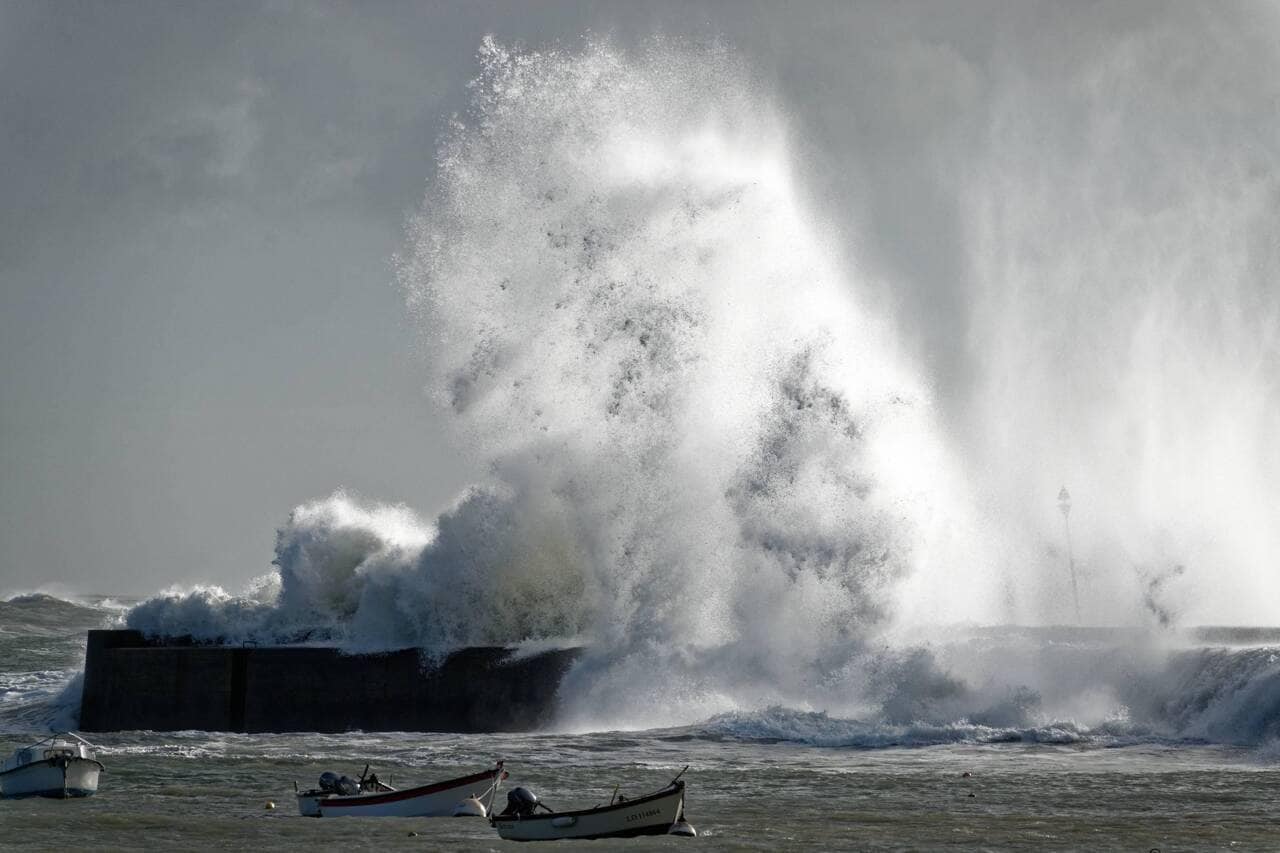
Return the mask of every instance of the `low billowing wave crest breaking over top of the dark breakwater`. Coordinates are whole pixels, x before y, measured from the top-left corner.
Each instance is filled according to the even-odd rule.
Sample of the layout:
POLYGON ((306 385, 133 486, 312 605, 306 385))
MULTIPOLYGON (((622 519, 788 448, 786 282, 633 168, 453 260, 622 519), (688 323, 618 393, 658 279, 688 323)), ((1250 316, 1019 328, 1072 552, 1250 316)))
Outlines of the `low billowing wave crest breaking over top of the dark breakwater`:
POLYGON ((524 506, 509 491, 475 489, 429 525, 406 507, 337 493, 291 514, 276 570, 244 593, 172 590, 134 607, 127 625, 210 642, 434 653, 571 634, 582 602, 557 596, 564 552, 524 506))

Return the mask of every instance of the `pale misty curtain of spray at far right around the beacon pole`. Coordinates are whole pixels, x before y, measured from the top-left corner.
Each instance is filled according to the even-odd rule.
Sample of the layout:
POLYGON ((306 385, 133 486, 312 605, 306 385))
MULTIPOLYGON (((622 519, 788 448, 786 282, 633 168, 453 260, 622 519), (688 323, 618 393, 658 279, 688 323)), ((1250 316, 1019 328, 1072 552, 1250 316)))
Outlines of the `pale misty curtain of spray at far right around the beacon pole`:
POLYGON ((1276 624, 1274 13, 1073 22, 1064 40, 1032 13, 1001 42, 980 132, 940 169, 964 232, 973 383, 952 421, 974 491, 1025 621, 1070 617, 1044 548, 1066 483, 1087 621, 1133 621, 1161 574, 1156 619, 1276 624))

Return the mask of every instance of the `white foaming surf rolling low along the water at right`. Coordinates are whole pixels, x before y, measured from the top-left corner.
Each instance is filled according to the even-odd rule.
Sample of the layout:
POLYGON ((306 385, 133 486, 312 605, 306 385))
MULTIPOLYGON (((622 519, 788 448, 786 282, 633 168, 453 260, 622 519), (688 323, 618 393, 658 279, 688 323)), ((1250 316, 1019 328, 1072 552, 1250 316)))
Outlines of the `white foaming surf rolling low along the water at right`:
MULTIPOLYGON (((1033 681, 1055 686, 1085 681, 1106 697, 1093 710, 1059 716, 1070 701, 1021 688, 1006 704, 983 710, 982 688, 955 681, 948 695, 916 703, 913 713, 849 719, 771 707, 712 717, 699 736, 788 740, 819 747, 920 747, 943 743, 1208 742, 1261 747, 1280 739, 1280 648, 1197 648, 1142 660, 1110 644, 1076 649, 1074 665, 1043 660, 1033 681), (937 702, 937 699, 942 702, 937 702)), ((1000 660, 988 661, 989 663, 1000 660)), ((1016 676, 1014 676, 1016 678, 1016 676)))

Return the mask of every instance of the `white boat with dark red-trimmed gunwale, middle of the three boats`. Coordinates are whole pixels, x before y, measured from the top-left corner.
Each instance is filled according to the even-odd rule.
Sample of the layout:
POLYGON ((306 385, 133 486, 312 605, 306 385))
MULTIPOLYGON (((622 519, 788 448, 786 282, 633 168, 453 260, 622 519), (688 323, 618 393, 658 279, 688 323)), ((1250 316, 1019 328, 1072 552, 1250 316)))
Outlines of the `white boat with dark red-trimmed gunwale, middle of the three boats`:
MULTIPOLYGON (((369 767, 365 767, 365 774, 369 767)), ((303 817, 485 817, 507 774, 502 762, 470 776, 397 790, 376 775, 358 780, 326 772, 320 788, 298 792, 303 817)))

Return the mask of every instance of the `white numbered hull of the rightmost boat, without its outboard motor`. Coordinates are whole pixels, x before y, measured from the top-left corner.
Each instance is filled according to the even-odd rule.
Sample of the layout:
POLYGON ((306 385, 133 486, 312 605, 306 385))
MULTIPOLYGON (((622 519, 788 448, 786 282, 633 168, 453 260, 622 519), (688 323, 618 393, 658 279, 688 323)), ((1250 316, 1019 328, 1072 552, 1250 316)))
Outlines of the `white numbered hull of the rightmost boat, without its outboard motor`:
POLYGON ((602 808, 529 817, 499 815, 493 826, 508 841, 666 835, 684 808, 685 784, 676 783, 657 794, 602 808))

